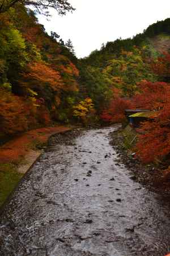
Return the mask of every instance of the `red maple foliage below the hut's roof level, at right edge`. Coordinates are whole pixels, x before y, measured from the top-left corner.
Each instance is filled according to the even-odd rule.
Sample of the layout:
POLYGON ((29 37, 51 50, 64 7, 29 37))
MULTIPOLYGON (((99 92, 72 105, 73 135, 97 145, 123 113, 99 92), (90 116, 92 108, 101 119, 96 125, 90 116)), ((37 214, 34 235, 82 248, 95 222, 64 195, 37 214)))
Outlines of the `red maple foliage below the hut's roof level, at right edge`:
POLYGON ((138 136, 137 155, 144 163, 167 160, 170 152, 170 129, 167 120, 170 112, 161 110, 152 122, 145 122, 138 136))

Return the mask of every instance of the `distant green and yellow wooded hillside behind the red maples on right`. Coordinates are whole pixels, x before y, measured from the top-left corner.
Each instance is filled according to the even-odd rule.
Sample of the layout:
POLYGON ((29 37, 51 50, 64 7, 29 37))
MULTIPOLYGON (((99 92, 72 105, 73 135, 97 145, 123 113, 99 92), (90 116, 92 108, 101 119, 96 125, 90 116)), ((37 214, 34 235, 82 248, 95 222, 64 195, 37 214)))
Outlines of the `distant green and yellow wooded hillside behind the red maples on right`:
POLYGON ((79 61, 80 84, 92 98, 97 113, 108 108, 114 96, 130 98, 138 82, 157 81, 151 63, 170 48, 170 19, 152 24, 132 39, 117 39, 79 61))

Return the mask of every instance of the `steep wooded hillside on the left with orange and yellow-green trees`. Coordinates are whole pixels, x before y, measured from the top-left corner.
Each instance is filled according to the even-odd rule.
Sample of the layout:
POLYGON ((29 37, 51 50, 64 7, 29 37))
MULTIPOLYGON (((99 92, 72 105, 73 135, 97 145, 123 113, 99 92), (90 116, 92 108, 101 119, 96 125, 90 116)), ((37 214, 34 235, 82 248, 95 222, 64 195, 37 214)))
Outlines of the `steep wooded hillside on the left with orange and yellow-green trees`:
POLYGON ((0 14, 2 136, 72 116, 79 90, 77 60, 71 42, 65 46, 57 40, 23 5, 0 14))

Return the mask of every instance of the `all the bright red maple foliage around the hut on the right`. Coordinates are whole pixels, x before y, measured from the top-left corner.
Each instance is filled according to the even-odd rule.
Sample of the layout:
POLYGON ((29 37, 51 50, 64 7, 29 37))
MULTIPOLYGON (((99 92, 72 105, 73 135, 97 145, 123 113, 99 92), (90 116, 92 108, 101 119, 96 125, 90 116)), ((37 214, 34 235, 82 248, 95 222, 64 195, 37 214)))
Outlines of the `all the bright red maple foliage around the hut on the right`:
MULTIPOLYGON (((127 55, 127 53, 126 53, 127 55)), ((130 55, 131 56, 131 55, 130 55)), ((115 61, 114 61, 115 63, 115 61)), ((122 64, 119 62, 118 64, 122 64)), ((124 67, 127 65, 124 64, 124 67)), ((158 57, 150 63, 157 81, 142 79, 136 82, 134 96, 129 100, 115 95, 108 108, 100 115, 107 123, 123 122, 125 109, 147 109, 152 111, 150 119, 141 123, 138 131, 138 141, 134 150, 137 157, 144 163, 164 162, 170 166, 170 55, 158 57)), ((116 66, 118 67, 118 66, 116 66)), ((108 67, 111 72, 111 68, 108 67)), ((107 72, 108 72, 107 71, 107 72)), ((122 84, 121 77, 113 77, 116 85, 122 84)))

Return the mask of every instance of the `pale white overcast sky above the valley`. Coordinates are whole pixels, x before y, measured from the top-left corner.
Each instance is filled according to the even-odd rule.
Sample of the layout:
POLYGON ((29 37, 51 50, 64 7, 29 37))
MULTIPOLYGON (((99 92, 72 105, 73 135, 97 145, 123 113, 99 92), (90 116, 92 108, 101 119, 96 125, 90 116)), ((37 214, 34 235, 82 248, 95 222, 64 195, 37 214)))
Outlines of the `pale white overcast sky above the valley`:
POLYGON ((88 56, 102 43, 128 38, 150 24, 170 17, 169 0, 68 0, 76 10, 59 16, 52 10, 46 20, 39 16, 47 32, 57 32, 73 42, 76 56, 88 56))

